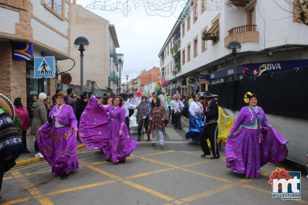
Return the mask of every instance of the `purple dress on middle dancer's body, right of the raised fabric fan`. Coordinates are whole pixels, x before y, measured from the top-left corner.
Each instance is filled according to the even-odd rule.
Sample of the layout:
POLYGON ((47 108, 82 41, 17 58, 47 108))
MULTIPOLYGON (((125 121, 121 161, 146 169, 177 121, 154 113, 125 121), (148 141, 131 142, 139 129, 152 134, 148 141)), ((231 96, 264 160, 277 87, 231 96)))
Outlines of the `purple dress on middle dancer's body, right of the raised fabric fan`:
POLYGON ((136 149, 139 143, 131 139, 130 132, 125 124, 125 109, 123 107, 109 106, 105 108, 109 111, 109 147, 110 160, 113 162, 124 162, 126 156, 136 149), (119 131, 123 134, 120 136, 119 131))

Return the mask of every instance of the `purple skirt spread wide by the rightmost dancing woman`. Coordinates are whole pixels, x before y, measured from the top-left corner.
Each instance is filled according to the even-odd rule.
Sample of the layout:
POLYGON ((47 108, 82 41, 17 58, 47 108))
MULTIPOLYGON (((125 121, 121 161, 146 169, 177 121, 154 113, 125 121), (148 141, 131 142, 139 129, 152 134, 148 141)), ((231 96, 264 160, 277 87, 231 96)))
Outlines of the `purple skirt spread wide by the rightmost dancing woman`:
POLYGON ((242 128, 226 140, 226 166, 232 171, 245 174, 246 178, 260 178, 260 167, 267 162, 279 163, 287 155, 287 140, 274 128, 260 132, 242 128))

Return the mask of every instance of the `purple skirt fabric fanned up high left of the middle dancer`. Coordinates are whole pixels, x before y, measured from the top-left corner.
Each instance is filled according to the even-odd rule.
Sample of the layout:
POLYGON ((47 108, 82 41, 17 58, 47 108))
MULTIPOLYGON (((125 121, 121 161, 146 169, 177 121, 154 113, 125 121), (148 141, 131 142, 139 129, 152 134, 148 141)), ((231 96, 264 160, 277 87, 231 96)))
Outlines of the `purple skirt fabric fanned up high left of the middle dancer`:
POLYGON ((109 116, 103 104, 97 104, 97 98, 91 97, 79 122, 79 137, 89 149, 100 149, 110 158, 109 116))

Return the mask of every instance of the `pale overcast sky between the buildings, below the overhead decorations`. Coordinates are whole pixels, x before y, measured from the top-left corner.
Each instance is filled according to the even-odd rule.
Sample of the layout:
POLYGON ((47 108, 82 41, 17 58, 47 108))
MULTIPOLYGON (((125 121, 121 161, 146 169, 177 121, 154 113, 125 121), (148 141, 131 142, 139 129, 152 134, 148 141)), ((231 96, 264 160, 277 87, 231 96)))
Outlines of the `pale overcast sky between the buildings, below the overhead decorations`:
MULTIPOLYGON (((115 2, 116 0, 110 1, 115 2)), ((84 8, 93 2, 94 0, 76 1, 84 8)), ((127 74, 129 75, 128 80, 130 80, 137 77, 141 70, 160 67, 158 54, 182 11, 178 5, 174 15, 161 17, 149 16, 144 8, 138 10, 132 8, 128 16, 124 16, 121 11, 87 9, 109 20, 110 24, 115 26, 120 45, 120 48, 117 48, 117 53, 124 54, 122 82, 126 81, 125 75, 127 74)))

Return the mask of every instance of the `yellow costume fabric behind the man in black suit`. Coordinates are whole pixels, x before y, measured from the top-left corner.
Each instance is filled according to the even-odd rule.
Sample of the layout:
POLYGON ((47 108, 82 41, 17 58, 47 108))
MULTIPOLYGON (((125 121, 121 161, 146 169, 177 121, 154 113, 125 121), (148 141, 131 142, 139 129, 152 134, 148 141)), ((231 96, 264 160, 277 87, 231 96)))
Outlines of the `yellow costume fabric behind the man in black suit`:
MULTIPOLYGON (((218 137, 217 137, 217 142, 225 142, 227 140, 227 136, 234 124, 234 119, 231 116, 228 116, 226 114, 223 113, 221 107, 218 106, 218 112, 219 112, 219 116, 218 116, 218 137), (223 120, 226 119, 227 123, 223 120)), ((207 144, 210 147, 209 144, 209 139, 207 139, 207 144)))

